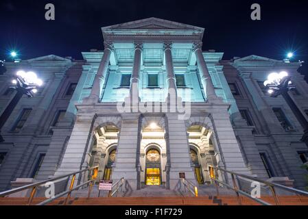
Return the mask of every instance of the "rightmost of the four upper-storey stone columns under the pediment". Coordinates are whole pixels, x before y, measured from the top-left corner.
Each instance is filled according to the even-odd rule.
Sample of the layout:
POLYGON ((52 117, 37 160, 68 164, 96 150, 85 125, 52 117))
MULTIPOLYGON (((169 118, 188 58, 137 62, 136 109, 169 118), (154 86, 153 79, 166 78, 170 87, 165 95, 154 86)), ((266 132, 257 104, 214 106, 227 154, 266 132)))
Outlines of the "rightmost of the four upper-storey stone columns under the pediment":
POLYGON ((213 82, 211 79, 211 75, 209 73, 209 70, 206 67, 206 63, 204 61, 204 57, 202 54, 202 42, 199 42, 198 44, 194 44, 193 50, 195 51, 195 54, 196 54, 198 69, 199 69, 204 93, 206 95, 206 99, 217 99, 217 96, 215 94, 215 89, 213 86, 213 82))

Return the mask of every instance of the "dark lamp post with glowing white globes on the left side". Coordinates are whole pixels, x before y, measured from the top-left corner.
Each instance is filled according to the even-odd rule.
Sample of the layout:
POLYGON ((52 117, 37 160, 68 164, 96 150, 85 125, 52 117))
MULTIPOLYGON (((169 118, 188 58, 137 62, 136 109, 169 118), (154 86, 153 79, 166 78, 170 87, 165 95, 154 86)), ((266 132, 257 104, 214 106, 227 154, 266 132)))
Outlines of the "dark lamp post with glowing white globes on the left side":
POLYGON ((10 103, 8 104, 8 107, 5 108, 5 110, 0 116, 0 142, 4 142, 1 136, 1 129, 10 117, 10 114, 13 112, 17 103, 19 103, 23 94, 27 95, 29 98, 32 98, 34 94, 38 92, 36 88, 38 88, 38 86, 42 86, 43 81, 41 79, 38 79, 36 73, 25 73, 25 71, 19 70, 16 75, 14 75, 12 83, 14 86, 12 86, 11 88, 16 90, 17 92, 12 101, 10 101, 10 103))

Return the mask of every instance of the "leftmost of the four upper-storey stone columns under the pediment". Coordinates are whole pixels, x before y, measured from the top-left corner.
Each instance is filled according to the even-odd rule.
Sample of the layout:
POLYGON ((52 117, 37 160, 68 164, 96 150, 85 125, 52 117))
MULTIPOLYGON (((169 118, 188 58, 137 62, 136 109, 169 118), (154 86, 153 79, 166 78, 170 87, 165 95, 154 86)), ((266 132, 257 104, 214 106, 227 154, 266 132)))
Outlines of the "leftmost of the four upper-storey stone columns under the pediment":
POLYGON ((113 49, 113 44, 110 42, 104 42, 104 55, 102 57, 102 61, 99 64, 99 68, 95 75, 95 79, 93 82, 92 90, 90 96, 84 99, 84 103, 98 103, 101 92, 104 86, 104 81, 106 77, 106 73, 109 66, 110 55, 113 49))

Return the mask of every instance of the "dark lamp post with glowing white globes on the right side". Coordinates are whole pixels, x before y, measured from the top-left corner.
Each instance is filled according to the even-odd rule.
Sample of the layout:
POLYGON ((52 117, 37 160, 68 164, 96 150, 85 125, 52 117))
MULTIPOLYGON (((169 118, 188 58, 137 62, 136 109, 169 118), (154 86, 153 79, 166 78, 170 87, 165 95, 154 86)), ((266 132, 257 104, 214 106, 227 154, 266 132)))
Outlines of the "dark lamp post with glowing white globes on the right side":
POLYGON ((293 99, 288 94, 289 90, 295 88, 295 86, 292 84, 291 77, 285 71, 282 71, 281 73, 271 73, 268 75, 268 80, 264 81, 264 86, 269 88, 268 92, 270 93, 270 96, 283 96, 292 112, 296 116, 298 122, 304 129, 303 137, 300 140, 305 142, 308 146, 308 122, 300 109, 298 109, 296 103, 294 103, 293 99))

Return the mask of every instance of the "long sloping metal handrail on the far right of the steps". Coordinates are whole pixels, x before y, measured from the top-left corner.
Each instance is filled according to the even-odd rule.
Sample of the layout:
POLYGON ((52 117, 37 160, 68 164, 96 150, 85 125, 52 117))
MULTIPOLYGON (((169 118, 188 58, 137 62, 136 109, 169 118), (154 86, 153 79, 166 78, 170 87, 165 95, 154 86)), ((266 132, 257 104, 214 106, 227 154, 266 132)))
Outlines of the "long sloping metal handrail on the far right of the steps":
POLYGON ((296 194, 300 194, 300 195, 303 195, 303 196, 308 196, 308 192, 305 192, 305 191, 302 191, 302 190, 297 190, 297 189, 290 188, 290 187, 287 187, 285 185, 281 185, 281 184, 277 184, 277 183, 270 183, 268 181, 264 181, 264 180, 261 180, 261 179, 250 177, 248 175, 239 174, 237 172, 233 172, 233 171, 230 171, 230 170, 225 170, 223 168, 219 168, 219 167, 216 167, 216 166, 209 165, 209 173, 210 173, 211 179, 215 182, 217 196, 220 195, 219 194, 219 185, 218 185, 220 183, 222 185, 225 185, 226 188, 235 191, 239 205, 241 205, 241 198, 239 196, 240 194, 243 195, 243 196, 246 196, 246 197, 252 199, 253 201, 256 201, 257 203, 260 203, 262 205, 271 205, 271 204, 261 200, 261 198, 254 198, 254 197, 251 196, 251 194, 248 194, 247 192, 240 190, 239 187, 237 186, 237 182, 235 180, 235 179, 238 179, 237 177, 241 177, 241 178, 244 178, 244 179, 250 179, 252 181, 257 181, 259 183, 263 183, 264 185, 268 185, 268 187, 270 188, 270 192, 272 193, 272 196, 274 197, 274 201, 275 201, 276 205, 280 205, 280 203, 279 203, 279 198, 276 194, 275 188, 279 188, 281 190, 285 190, 285 191, 288 191, 288 192, 294 192, 296 194), (223 181, 220 181, 219 179, 216 179, 215 170, 220 170, 222 172, 230 174, 233 185, 229 185, 226 182, 223 182, 223 181))

